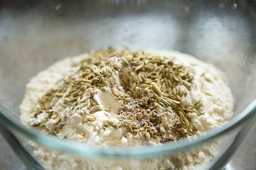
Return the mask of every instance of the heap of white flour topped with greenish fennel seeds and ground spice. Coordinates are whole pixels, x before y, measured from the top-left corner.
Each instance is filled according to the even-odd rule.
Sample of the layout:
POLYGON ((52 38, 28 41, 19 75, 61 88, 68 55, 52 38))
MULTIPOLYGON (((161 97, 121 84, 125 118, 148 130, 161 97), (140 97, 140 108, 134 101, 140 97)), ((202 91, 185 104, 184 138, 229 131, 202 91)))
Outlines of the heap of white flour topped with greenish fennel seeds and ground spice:
POLYGON ((223 74, 192 56, 109 48, 39 73, 20 111, 26 125, 60 138, 132 146, 202 135, 233 116, 233 98, 223 74))

